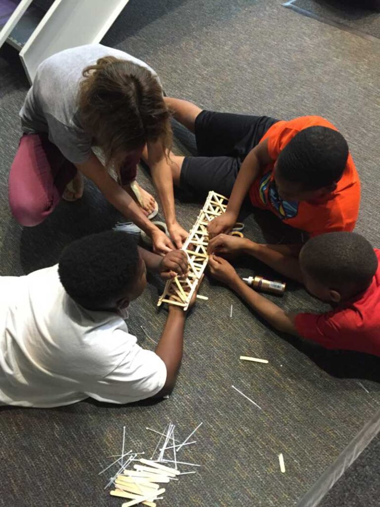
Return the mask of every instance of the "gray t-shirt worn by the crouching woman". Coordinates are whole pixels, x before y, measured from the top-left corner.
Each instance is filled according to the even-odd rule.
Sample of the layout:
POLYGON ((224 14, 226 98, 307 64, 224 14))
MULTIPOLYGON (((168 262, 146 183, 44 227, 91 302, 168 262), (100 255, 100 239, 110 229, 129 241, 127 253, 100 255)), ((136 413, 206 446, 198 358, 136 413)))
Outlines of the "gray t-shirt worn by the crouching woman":
POLYGON ((157 77, 146 63, 118 49, 101 44, 66 49, 39 65, 20 111, 24 133, 47 132, 49 140, 74 164, 85 162, 91 154, 92 137, 78 118, 77 95, 82 72, 104 56, 131 61, 157 77))

